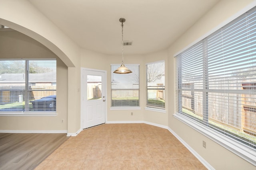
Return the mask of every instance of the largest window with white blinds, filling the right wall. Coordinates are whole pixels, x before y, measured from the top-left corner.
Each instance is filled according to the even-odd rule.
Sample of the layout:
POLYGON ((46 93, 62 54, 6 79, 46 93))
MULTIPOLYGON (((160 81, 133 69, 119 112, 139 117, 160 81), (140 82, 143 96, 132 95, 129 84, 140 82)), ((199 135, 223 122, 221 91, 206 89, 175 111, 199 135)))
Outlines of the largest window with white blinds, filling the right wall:
POLYGON ((256 9, 176 56, 176 112, 256 149, 256 9))

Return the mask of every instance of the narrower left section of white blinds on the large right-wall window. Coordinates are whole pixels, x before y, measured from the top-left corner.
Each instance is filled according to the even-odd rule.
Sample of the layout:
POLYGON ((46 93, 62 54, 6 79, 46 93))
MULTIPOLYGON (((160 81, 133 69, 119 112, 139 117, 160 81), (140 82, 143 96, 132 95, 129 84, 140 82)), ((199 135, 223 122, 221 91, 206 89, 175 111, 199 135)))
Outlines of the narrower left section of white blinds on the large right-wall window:
POLYGON ((195 120, 203 120, 204 41, 181 53, 176 59, 176 85, 179 104, 177 110, 195 120), (181 107, 181 106, 182 107, 181 107), (199 118, 199 119, 198 119, 199 118))

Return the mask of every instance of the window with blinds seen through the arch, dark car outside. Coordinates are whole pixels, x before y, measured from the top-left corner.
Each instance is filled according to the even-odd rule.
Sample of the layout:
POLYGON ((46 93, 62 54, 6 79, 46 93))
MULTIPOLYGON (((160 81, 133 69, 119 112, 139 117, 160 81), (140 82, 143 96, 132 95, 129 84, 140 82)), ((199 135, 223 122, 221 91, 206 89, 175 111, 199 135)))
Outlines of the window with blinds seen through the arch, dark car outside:
POLYGON ((0 60, 0 113, 56 111, 56 60, 0 60))

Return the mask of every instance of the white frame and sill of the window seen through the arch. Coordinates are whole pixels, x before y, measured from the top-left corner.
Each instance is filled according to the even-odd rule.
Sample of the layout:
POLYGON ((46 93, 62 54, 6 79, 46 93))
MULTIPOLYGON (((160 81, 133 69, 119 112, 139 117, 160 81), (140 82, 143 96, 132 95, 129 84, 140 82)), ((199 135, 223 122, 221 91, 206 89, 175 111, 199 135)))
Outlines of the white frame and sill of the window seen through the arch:
MULTIPOLYGON (((57 79, 57 60, 56 58, 24 58, 24 59, 0 59, 0 61, 25 61, 25 63, 27 63, 27 61, 51 61, 54 60, 56 61, 56 79, 57 79)), ((29 69, 29 65, 26 64, 27 66, 25 66, 25 72, 26 75, 28 76, 28 81, 29 81, 29 73, 26 71, 29 69)), ((30 84, 30 82, 27 82, 27 78, 25 81, 25 86, 28 86, 30 84)), ((56 82, 55 82, 56 84, 56 82)), ((57 88, 57 87, 56 87, 57 88)), ((28 92, 30 92, 31 90, 27 90, 28 92)), ((45 91, 49 91, 49 90, 45 90, 45 91)), ((57 90, 50 90, 50 91, 55 91, 57 92, 57 90)), ((57 96, 56 96, 56 100, 57 100, 57 96)), ((56 104, 55 104, 56 107, 56 104)), ((54 111, 1 111, 0 112, 0 116, 57 116, 57 110, 55 109, 54 111)))

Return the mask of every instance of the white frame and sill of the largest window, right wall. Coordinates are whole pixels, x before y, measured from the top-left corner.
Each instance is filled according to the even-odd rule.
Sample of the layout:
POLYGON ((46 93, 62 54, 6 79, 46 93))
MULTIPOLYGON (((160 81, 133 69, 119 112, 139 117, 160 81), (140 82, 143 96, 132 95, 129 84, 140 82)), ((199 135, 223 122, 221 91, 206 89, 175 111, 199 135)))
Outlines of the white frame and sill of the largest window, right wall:
MULTIPOLYGON (((245 15, 245 14, 243 14, 243 15, 245 15)), ((238 18, 240 18, 240 17, 238 17, 238 18)), ((233 22, 233 21, 231 21, 231 22, 233 22)), ((202 40, 202 41, 204 41, 204 40, 202 40)), ((200 43, 200 42, 198 42, 198 43, 200 43)), ((196 43, 196 44, 198 44, 198 43, 196 43)), ((193 45, 193 46, 196 46, 196 44, 193 45)), ((187 49, 190 49, 190 48, 191 47, 189 47, 187 49)), ((184 51, 186 51, 187 49, 185 49, 184 51)), ((178 56, 178 55, 174 56, 175 60, 177 62, 177 60, 179 60, 179 59, 177 59, 176 56, 178 56)), ((181 77, 179 77, 178 72, 179 72, 179 70, 177 69, 177 64, 176 64, 176 74, 175 74, 175 79, 176 79, 176 83, 175 83, 175 86, 176 86, 175 87, 176 88, 175 89, 176 111, 174 113, 174 117, 176 119, 178 119, 179 121, 182 121, 183 123, 185 123, 189 127, 195 129, 199 133, 202 133, 203 135, 205 135, 206 137, 208 137, 212 141, 218 143, 222 147, 230 150, 234 154, 240 156, 244 160, 246 160, 246 161, 250 162, 251 164, 253 164, 254 166, 256 166, 256 150, 255 149, 252 149, 248 145, 245 145, 243 143, 238 142, 236 139, 232 139, 230 137, 227 137, 226 135, 224 135, 222 133, 218 133, 216 130, 213 130, 212 128, 209 128, 207 126, 207 123, 208 123, 207 121, 205 121, 205 124, 203 124, 202 121, 200 123, 200 121, 197 121, 196 118, 192 119, 191 117, 187 116, 186 114, 178 112, 178 110, 180 110, 180 107, 182 107, 182 106, 180 106, 180 101, 182 100, 182 96, 181 96, 181 93, 179 91, 179 88, 180 88, 182 82, 181 82, 181 77)), ((205 70, 203 72, 205 72, 205 70)), ((207 75, 207 73, 205 74, 205 76, 206 76, 206 82, 204 82, 204 85, 207 88, 208 87, 207 86, 208 85, 208 82, 207 82, 207 76, 208 75, 207 75)), ((210 92, 221 92, 221 91, 222 90, 218 90, 218 89, 210 90, 210 92)), ((230 90, 230 92, 231 91, 232 90, 230 90)), ((206 102, 206 105, 208 105, 207 102, 206 102)), ((207 115, 204 115, 204 119, 205 118, 207 118, 207 115)))

